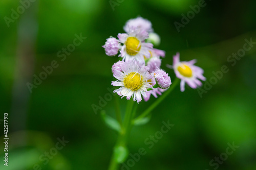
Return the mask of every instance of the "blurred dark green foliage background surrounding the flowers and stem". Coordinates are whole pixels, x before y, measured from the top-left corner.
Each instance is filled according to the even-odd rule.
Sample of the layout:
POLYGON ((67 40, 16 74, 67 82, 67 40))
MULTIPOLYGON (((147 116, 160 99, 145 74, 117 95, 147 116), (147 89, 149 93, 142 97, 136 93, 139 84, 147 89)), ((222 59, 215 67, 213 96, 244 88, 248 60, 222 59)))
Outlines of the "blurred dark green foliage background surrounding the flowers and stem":
MULTIPOLYGON (((124 33, 125 22, 137 16, 151 20, 160 35, 157 48, 166 51, 161 67, 172 80, 174 71, 166 64, 172 64, 177 52, 183 61, 197 59, 207 82, 223 65, 229 71, 202 98, 195 89, 186 86, 180 92, 177 87, 148 124, 133 128, 130 152, 145 148, 147 153, 130 169, 217 169, 209 162, 232 142, 239 148, 218 169, 256 169, 256 44, 233 66, 227 62, 245 39, 256 41, 256 1, 206 1, 179 33, 174 22, 181 22, 181 14, 198 1, 113 2, 118 4, 114 10, 103 0, 41 0, 25 3, 23 12, 19 1, 1 0, 0 123, 3 132, 4 113, 9 113, 9 162, 4 166, 1 142, 0 169, 107 169, 117 133, 104 125, 92 104, 99 105, 99 96, 104 98, 112 88, 111 66, 118 57, 106 56, 101 45, 124 33), (14 16, 12 9, 17 8, 21 14, 14 16), (7 24, 12 15, 16 19, 7 24), (58 52, 73 43, 75 34, 87 38, 61 61, 58 52), (27 83, 53 60, 58 67, 30 93, 27 83), (167 120, 175 126, 148 149, 145 139, 167 120), (56 150, 62 137, 69 142, 56 150), (54 156, 48 159, 47 152, 54 156)), ((138 110, 155 100, 141 102, 138 110)), ((120 101, 125 109, 126 99, 120 101)), ((102 109, 114 117, 114 100, 102 109)))

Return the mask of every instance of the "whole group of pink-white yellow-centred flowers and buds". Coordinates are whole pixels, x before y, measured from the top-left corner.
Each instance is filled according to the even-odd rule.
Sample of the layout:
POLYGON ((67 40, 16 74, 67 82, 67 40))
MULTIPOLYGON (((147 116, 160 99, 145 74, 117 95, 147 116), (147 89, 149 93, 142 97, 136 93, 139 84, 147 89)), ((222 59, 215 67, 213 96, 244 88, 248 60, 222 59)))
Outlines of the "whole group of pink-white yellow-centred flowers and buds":
MULTIPOLYGON (((102 46, 106 55, 116 56, 119 53, 118 57, 122 58, 112 66, 113 76, 117 79, 112 85, 120 87, 114 92, 127 100, 133 96, 138 103, 142 100, 141 95, 145 101, 151 94, 157 98, 157 94, 161 95, 172 84, 168 74, 160 69, 165 52, 153 47, 159 45, 160 37, 154 33, 151 21, 142 17, 128 20, 123 29, 126 33, 118 34, 118 39, 106 39, 102 46)), ((195 62, 180 62, 177 53, 173 66, 169 65, 181 79, 181 91, 184 91, 185 82, 197 88, 202 85, 197 78, 205 80, 203 70, 195 66, 195 62)))

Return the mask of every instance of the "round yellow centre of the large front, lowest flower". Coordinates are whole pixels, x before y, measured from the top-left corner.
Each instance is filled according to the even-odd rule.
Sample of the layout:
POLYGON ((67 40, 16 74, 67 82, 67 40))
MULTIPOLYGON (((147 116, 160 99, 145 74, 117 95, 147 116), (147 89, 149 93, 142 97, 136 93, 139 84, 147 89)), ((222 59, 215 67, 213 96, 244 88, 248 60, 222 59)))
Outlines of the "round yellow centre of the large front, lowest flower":
POLYGON ((143 77, 136 72, 130 72, 130 74, 125 76, 125 78, 123 79, 123 83, 124 87, 136 91, 142 86, 143 77))

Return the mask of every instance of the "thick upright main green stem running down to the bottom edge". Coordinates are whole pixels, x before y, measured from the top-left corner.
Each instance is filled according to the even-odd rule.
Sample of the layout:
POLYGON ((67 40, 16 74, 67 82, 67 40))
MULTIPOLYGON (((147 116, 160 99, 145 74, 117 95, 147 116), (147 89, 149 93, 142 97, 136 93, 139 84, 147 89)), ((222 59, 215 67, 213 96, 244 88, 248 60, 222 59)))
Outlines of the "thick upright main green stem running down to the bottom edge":
MULTIPOLYGON (((126 111, 125 111, 125 116, 124 116, 124 120, 123 120, 123 126, 122 129, 119 133, 118 139, 117 139, 117 143, 114 147, 114 151, 115 148, 122 146, 124 148, 126 148, 126 142, 127 142, 127 138, 129 136, 130 130, 131 130, 131 125, 132 125, 132 119, 133 119, 133 105, 134 105, 134 101, 131 99, 128 101, 127 106, 126 106, 126 111)), ((109 170, 117 170, 120 166, 120 163, 117 162, 115 160, 115 153, 113 152, 113 155, 111 157, 111 162, 110 162, 110 166, 109 166, 109 170)))

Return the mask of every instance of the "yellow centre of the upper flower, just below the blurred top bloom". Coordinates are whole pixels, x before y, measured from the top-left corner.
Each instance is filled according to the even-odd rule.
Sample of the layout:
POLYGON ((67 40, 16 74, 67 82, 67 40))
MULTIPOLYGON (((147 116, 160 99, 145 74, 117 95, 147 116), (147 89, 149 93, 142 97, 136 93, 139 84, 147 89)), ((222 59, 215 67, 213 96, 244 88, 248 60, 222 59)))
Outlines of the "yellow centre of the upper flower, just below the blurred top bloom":
POLYGON ((140 51, 140 41, 136 37, 128 37, 126 42, 126 53, 130 56, 135 56, 140 51))

